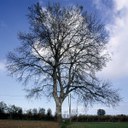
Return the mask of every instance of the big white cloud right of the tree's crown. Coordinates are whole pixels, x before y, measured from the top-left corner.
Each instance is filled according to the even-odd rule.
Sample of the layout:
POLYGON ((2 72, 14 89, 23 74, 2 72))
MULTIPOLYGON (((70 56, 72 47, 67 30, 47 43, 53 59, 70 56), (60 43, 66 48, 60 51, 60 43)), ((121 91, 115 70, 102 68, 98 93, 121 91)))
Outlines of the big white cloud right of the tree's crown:
POLYGON ((110 31, 108 50, 112 60, 101 73, 111 79, 128 76, 128 0, 114 2, 114 21, 107 26, 110 31))

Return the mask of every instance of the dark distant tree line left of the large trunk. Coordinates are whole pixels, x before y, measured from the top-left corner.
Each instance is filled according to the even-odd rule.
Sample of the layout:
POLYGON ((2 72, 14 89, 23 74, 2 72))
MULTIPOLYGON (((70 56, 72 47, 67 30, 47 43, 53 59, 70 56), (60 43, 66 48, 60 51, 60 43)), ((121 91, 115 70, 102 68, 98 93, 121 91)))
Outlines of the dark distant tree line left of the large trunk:
POLYGON ((52 115, 50 108, 47 111, 44 108, 23 111, 21 107, 15 105, 7 106, 6 103, 0 102, 0 119, 56 120, 56 115, 52 115))

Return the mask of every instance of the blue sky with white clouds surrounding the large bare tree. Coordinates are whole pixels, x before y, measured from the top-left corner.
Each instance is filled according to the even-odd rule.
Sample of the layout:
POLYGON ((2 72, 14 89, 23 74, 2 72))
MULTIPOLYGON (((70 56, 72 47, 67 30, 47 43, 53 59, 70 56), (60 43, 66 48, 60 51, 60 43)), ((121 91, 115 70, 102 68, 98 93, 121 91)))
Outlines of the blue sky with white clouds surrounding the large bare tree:
MULTIPOLYGON (((79 113, 96 114, 97 109, 102 108, 106 114, 128 114, 128 0, 0 0, 0 101, 8 105, 15 104, 24 110, 43 107, 55 111, 53 99, 27 99, 25 86, 10 77, 5 68, 8 52, 20 46, 17 33, 28 31, 28 7, 36 2, 44 7, 48 2, 59 2, 62 6, 82 5, 105 24, 110 34, 107 50, 111 61, 98 72, 98 76, 111 81, 113 88, 119 89, 123 100, 115 108, 100 104, 84 108, 78 104, 78 110, 79 113)), ((72 101, 72 109, 76 109, 75 100, 72 101)), ((67 111, 66 100, 63 113, 67 111)))

